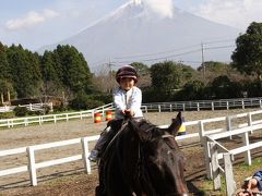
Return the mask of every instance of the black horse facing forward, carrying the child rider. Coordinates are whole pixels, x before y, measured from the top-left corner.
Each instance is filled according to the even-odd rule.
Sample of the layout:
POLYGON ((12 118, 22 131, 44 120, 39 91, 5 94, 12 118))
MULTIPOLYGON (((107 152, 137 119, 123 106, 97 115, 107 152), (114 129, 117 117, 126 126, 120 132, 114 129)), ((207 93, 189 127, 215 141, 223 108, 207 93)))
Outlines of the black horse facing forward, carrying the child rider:
POLYGON ((96 196, 188 195, 175 140, 181 123, 180 112, 168 128, 144 119, 124 121, 100 159, 96 196))

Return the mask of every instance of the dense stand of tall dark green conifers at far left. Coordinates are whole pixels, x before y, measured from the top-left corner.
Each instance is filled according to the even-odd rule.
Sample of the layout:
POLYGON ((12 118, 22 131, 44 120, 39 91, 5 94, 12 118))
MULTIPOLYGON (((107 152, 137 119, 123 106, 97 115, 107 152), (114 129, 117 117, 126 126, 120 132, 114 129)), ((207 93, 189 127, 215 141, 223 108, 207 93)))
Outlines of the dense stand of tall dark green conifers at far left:
POLYGON ((92 91, 92 73, 82 53, 72 46, 57 46, 43 56, 0 42, 0 93, 11 98, 47 95, 72 99, 92 91))

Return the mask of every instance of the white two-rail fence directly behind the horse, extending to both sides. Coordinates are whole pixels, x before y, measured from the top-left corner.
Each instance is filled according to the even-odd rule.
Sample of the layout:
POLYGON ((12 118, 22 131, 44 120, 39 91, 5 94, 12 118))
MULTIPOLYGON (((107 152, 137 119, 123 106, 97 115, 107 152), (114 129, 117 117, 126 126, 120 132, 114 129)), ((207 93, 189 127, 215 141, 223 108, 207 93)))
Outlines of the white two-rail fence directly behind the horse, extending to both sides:
MULTIPOLYGON (((177 140, 182 140, 182 139, 198 137, 202 142, 202 145, 205 149, 204 151, 206 154, 205 155, 206 172, 207 172, 207 175, 211 176, 213 173, 211 172, 211 161, 210 161, 211 156, 210 156, 207 136, 209 136, 210 139, 215 140, 215 138, 218 135, 230 136, 230 135, 234 135, 234 134, 237 134, 237 133, 238 134, 243 134, 246 132, 251 132, 251 131, 254 131, 257 127, 262 128, 262 124, 260 124, 261 120, 257 120, 257 121, 252 120, 253 115, 261 114, 261 113, 262 113, 262 110, 255 111, 255 112, 242 113, 242 114, 238 114, 238 115, 234 115, 234 117, 222 117, 222 118, 215 118, 215 119, 206 119, 206 120, 184 122, 184 125, 187 127, 196 125, 199 128, 195 133, 183 135, 183 136, 178 136, 178 137, 176 137, 176 139, 177 140), (238 124, 237 126, 242 127, 242 128, 234 130, 234 127, 230 126, 231 125, 231 120, 236 119, 238 117, 239 118, 247 117, 248 118, 248 123, 238 124), (216 128, 216 130, 209 130, 209 131, 204 130, 204 127, 205 127, 205 125, 207 125, 207 123, 214 123, 214 122, 218 122, 218 121, 225 122, 226 126, 225 127, 219 127, 219 128, 216 128), (249 126, 247 126, 247 125, 249 125, 249 126), (247 126, 247 127, 243 127, 243 126, 247 126), (230 132, 225 132, 225 131, 230 131, 230 132), (216 133, 218 133, 218 134, 216 134, 216 133)), ((168 125, 162 125, 160 127, 167 127, 167 126, 168 125)), ((75 161, 75 160, 80 160, 80 159, 83 160, 83 164, 84 164, 84 168, 85 168, 86 172, 91 173, 91 164, 90 164, 90 161, 87 160, 87 156, 90 154, 88 152, 88 142, 96 140, 96 139, 98 139, 98 137, 99 136, 96 135, 96 136, 91 136, 91 137, 75 138, 75 139, 70 139, 70 140, 61 140, 61 142, 49 143, 49 144, 44 144, 44 145, 35 145, 35 146, 22 147, 22 148, 16 148, 16 149, 1 150, 0 151, 0 157, 26 152, 26 155, 28 157, 28 164, 17 167, 17 168, 11 168, 11 169, 7 169, 7 170, 0 170, 0 176, 28 171, 29 176, 31 176, 31 183, 32 183, 32 185, 35 186, 35 185, 37 185, 37 176, 36 176, 36 170, 37 169, 45 168, 45 167, 50 167, 50 166, 56 166, 56 164, 61 164, 61 163, 75 161), (82 155, 75 155, 75 156, 71 156, 71 157, 66 157, 66 158, 61 158, 61 159, 57 159, 57 160, 48 160, 48 161, 44 161, 44 162, 36 162, 35 161, 35 154, 37 152, 37 150, 55 148, 55 147, 72 145, 72 144, 80 144, 80 143, 82 144, 82 151, 83 151, 82 155)), ((248 144, 248 142, 246 142, 245 144, 248 144)), ((261 145, 261 143, 259 143, 259 145, 261 145)), ((249 146, 251 146, 251 145, 249 145, 249 146)), ((243 149, 243 148, 240 148, 240 149, 243 149)), ((233 155, 234 154, 239 154, 241 151, 240 149, 235 149, 235 151, 231 150, 229 152, 233 154, 233 155)), ((245 148, 245 149, 247 149, 247 148, 245 148)))

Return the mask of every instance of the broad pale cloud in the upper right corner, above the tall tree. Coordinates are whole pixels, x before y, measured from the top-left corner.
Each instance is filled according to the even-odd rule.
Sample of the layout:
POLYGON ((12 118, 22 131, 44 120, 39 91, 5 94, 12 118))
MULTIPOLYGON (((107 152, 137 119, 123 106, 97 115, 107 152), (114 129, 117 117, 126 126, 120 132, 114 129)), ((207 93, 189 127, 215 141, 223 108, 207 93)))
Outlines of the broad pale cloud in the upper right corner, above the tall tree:
POLYGON ((204 0, 195 14, 237 28, 246 29, 253 21, 261 22, 262 1, 204 0))

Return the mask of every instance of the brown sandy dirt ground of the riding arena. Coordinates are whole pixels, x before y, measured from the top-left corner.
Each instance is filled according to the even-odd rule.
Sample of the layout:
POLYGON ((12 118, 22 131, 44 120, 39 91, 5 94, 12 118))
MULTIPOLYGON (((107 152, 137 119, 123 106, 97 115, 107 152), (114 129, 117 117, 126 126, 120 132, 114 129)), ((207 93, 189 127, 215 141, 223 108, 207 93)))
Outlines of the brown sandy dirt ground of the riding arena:
MULTIPOLYGON (((217 110, 217 111, 186 111, 182 112, 186 121, 211 119, 217 117, 233 115, 254 111, 258 109, 246 110, 217 110)), ((146 113, 145 118, 157 125, 169 124, 170 119, 177 112, 146 113)), ((247 122, 246 119, 239 120, 247 122)), ((45 144, 58 140, 79 138, 84 136, 97 135, 106 126, 106 122, 93 123, 88 119, 72 120, 69 122, 58 122, 57 124, 47 123, 43 125, 15 127, 0 130, 0 150, 25 147, 37 144, 45 144)), ((206 128, 216 128, 225 124, 211 124, 206 128)), ((198 126, 187 128, 189 133, 198 132, 198 126)), ((254 140, 262 138, 261 135, 254 136, 254 140)), ((94 144, 92 144, 94 145, 94 144)), ((187 157, 186 179, 189 188, 198 195, 198 179, 204 176, 204 156, 198 142, 180 143, 180 148, 187 157)), ((229 144, 228 144, 229 145, 229 144)), ((36 162, 59 159, 67 156, 81 154, 81 145, 70 145, 60 148, 39 150, 36 154, 36 162)), ((8 169, 26 164, 25 154, 0 157, 0 169, 8 169)), ((26 172, 0 177, 0 195, 90 195, 93 196, 97 185, 96 166, 92 166, 92 174, 87 175, 83 171, 83 162, 75 161, 55 167, 37 170, 38 185, 29 186, 29 176, 26 172)))

